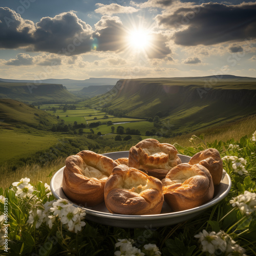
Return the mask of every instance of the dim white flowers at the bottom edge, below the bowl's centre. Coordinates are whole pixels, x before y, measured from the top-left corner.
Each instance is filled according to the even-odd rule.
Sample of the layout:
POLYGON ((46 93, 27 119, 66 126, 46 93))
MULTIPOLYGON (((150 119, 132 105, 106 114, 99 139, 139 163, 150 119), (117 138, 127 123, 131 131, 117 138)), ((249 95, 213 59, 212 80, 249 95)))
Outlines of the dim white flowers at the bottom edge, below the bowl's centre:
POLYGON ((155 244, 145 244, 142 251, 133 246, 134 240, 132 239, 118 239, 119 242, 115 244, 118 251, 115 251, 115 256, 159 256, 161 252, 155 244))

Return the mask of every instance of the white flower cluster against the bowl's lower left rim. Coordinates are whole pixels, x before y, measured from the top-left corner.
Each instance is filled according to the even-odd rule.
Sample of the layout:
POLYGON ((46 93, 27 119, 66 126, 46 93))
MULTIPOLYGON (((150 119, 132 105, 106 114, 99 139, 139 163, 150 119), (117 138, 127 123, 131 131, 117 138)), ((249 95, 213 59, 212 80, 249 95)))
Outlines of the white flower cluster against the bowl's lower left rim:
POLYGON ((38 228, 42 223, 46 223, 52 228, 55 220, 60 220, 62 224, 65 224, 69 231, 77 233, 83 226, 86 225, 84 216, 86 211, 81 208, 73 206, 66 199, 58 199, 46 202, 43 205, 44 209, 32 208, 29 211, 28 223, 34 224, 38 228))

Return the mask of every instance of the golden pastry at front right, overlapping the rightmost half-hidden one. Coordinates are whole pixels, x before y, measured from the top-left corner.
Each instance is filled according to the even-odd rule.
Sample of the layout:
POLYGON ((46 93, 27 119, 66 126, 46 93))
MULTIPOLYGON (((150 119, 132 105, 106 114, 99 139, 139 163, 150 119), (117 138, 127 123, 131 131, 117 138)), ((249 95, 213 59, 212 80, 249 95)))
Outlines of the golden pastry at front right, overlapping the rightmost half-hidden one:
POLYGON ((174 211, 200 206, 214 196, 211 175, 200 164, 179 164, 168 172, 162 183, 164 200, 174 211))

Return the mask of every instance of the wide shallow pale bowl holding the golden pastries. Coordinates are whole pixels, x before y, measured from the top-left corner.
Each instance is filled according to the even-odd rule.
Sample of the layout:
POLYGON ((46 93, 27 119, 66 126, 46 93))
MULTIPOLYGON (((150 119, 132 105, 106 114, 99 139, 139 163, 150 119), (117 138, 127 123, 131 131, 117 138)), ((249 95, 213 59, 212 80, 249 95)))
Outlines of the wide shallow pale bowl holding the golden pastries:
MULTIPOLYGON (((128 157, 129 151, 121 151, 121 152, 112 152, 103 154, 112 159, 128 157)), ((178 155, 182 161, 182 163, 188 162, 190 157, 184 155, 178 155)), ((60 168, 52 177, 51 180, 51 190, 52 194, 56 199, 67 199, 69 200, 62 190, 62 176, 63 176, 64 167, 60 168)), ((214 206, 223 200, 229 190, 231 188, 231 179, 229 175, 223 170, 223 176, 221 183, 218 186, 215 186, 214 198, 210 200, 208 203, 203 204, 199 207, 172 212, 170 207, 164 202, 162 211, 158 215, 119 215, 119 214, 111 214, 105 206, 105 203, 102 202, 93 207, 82 207, 73 202, 70 202, 76 206, 86 210, 86 219, 115 227, 123 227, 123 228, 153 228, 153 227, 161 227, 172 224, 177 224, 191 218, 194 218, 201 214, 201 212, 205 211, 207 208, 214 206)))

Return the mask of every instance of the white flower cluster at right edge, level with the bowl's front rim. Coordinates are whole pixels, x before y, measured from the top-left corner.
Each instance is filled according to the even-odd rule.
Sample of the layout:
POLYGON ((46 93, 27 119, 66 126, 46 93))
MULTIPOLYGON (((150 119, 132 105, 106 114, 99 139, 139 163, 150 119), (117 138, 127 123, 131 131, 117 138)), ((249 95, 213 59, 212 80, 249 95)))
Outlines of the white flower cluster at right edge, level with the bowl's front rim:
POLYGON ((243 214, 249 215, 250 212, 256 211, 256 194, 247 190, 243 195, 233 197, 229 202, 233 207, 238 206, 243 214))

